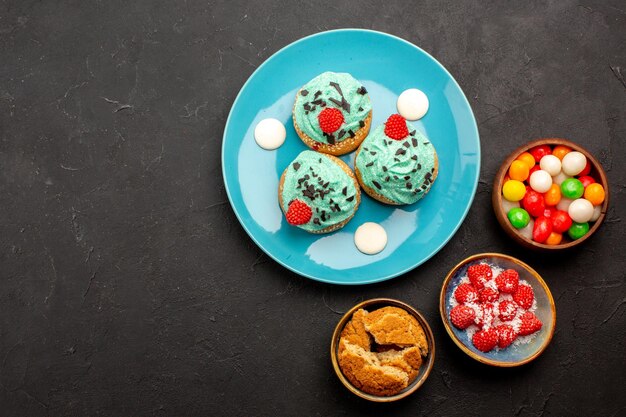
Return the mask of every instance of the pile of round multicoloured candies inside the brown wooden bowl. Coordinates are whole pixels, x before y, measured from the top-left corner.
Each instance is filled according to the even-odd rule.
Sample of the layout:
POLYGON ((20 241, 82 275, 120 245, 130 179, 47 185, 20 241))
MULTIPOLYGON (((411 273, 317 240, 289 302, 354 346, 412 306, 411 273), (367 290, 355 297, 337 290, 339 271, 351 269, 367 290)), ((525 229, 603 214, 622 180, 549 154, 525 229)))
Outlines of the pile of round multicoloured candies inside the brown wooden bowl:
POLYGON ((606 192, 590 175, 591 161, 568 146, 535 146, 517 156, 505 174, 502 208, 521 236, 560 245, 589 232, 602 215, 606 192))

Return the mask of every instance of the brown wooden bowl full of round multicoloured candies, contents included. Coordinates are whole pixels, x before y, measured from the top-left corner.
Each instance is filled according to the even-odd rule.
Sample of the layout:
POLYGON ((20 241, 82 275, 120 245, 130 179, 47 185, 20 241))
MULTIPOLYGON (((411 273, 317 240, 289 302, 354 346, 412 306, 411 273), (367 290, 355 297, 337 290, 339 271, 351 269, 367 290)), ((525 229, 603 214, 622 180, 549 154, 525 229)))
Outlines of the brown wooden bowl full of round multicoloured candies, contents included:
POLYGON ((521 245, 566 249, 602 224, 608 182, 600 163, 580 145, 540 139, 506 158, 496 174, 492 203, 502 228, 521 245))

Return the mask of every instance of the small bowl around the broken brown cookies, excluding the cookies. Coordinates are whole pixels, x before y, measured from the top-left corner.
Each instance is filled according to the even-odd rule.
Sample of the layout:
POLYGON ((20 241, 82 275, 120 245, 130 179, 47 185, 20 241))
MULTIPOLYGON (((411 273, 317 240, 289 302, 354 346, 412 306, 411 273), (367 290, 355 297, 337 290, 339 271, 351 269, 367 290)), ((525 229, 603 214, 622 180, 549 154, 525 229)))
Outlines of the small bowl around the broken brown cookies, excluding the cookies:
POLYGON ((363 301, 362 303, 355 305, 341 318, 341 320, 335 327, 335 331, 333 332, 333 338, 330 343, 330 358, 332 360, 333 368, 335 369, 335 373, 337 374, 337 377, 339 378, 341 383, 348 390, 350 390, 350 392, 369 401, 392 402, 392 401, 397 401, 397 400, 400 400, 402 398, 405 398, 411 395, 412 393, 417 391, 419 387, 422 386, 424 381, 426 381, 426 378, 428 378, 428 375, 430 374, 430 371, 432 370, 433 364, 435 362, 435 338, 433 336, 432 330, 430 329, 430 326, 426 322, 426 319, 424 319, 424 316, 422 316, 419 311, 417 311, 410 305, 399 300, 394 300, 392 298, 373 298, 371 300, 363 301), (428 343, 428 356, 423 358, 422 366, 419 369, 419 373, 417 377, 411 384, 409 384, 408 387, 406 387, 405 389, 403 389, 396 395, 383 397, 383 396, 368 394, 366 392, 359 390, 354 385, 352 385, 350 381, 348 380, 348 378, 346 378, 343 372, 341 371, 341 367, 339 366, 339 360, 337 357, 337 351, 339 349, 339 338, 341 337, 341 331, 346 326, 346 324, 348 324, 348 322, 352 319, 352 315, 358 309, 362 308, 366 311, 373 311, 378 308, 387 307, 387 306, 399 307, 405 310, 406 312, 408 312, 409 314, 411 314, 413 317, 415 317, 417 322, 424 329, 424 334, 426 335, 426 341, 428 343))

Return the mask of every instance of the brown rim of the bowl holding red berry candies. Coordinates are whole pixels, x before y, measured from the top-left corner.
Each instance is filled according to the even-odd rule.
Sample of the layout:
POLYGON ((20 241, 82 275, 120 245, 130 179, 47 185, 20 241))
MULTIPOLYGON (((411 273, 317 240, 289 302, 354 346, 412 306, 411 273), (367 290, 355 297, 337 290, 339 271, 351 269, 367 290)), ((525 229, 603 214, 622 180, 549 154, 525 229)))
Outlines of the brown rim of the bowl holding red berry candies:
POLYGON ((458 264, 456 264, 450 270, 450 272, 448 272, 448 275, 446 275, 446 278, 443 280, 443 285, 441 286, 441 292, 439 293, 439 314, 441 315, 441 321, 443 321, 443 326, 446 328, 446 332, 448 332, 448 335, 450 336, 452 341, 463 352, 465 352, 470 358, 472 358, 472 359, 474 359, 474 360, 476 360, 476 361, 478 361, 480 363, 484 363, 486 365, 491 365, 491 366, 497 366, 497 367, 500 367, 500 368, 512 368, 512 367, 515 367, 515 366, 521 366, 521 365, 527 364, 527 363, 535 360, 539 355, 541 355, 543 353, 544 350, 547 349, 548 345, 552 341, 552 337, 554 336, 554 331, 556 329, 556 305, 554 303, 554 298, 552 297, 552 293, 550 292, 550 289, 548 288, 548 285, 543 280, 541 275, 539 275, 539 273, 537 271, 535 271, 533 268, 531 268, 525 262, 522 262, 519 259, 514 258, 514 257, 512 257, 510 255, 505 255, 503 253, 496 253, 496 252, 478 253, 476 255, 469 256, 469 257, 463 259, 458 264), (459 338, 456 336, 456 334, 454 333, 454 331, 452 331, 452 328, 450 327, 449 319, 448 319, 448 316, 446 314, 446 288, 447 288, 448 284, 450 283, 450 280, 452 279, 454 274, 460 268, 465 266, 466 264, 468 264, 470 262, 473 262, 473 261, 475 261, 477 259, 485 259, 485 258, 507 259, 507 260, 513 262, 515 265, 518 265, 519 267, 525 269, 533 277, 535 277, 535 279, 537 279, 537 281, 539 282, 539 284, 541 285, 543 290, 546 292, 546 295, 548 296, 548 300, 550 301, 550 312, 552 313, 552 326, 551 326, 550 334, 546 337, 546 339, 543 342, 543 344, 541 345, 541 347, 534 354, 532 354, 531 356, 529 356, 526 359, 522 359, 522 360, 517 361, 517 362, 507 362, 507 361, 498 361, 498 360, 489 359, 489 358, 485 358, 483 356, 480 356, 480 355, 472 352, 461 340, 459 340, 459 338))

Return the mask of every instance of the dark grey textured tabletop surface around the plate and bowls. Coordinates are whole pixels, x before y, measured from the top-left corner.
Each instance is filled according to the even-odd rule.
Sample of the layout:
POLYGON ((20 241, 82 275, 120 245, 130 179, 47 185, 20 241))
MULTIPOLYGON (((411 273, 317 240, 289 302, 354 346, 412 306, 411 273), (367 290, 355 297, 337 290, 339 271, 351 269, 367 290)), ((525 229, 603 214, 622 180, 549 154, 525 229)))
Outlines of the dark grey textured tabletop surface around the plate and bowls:
POLYGON ((0 1, 0 415, 626 415, 624 3, 408 4, 0 1), (484 156, 451 242, 365 287, 270 261, 221 177, 246 78, 338 27, 439 59, 484 156), (499 161, 541 136, 586 146, 612 191, 600 233, 550 257, 515 246, 490 207, 499 161), (556 334, 528 366, 473 362, 438 317, 445 273, 481 251, 531 263, 552 289, 556 334), (436 335, 431 377, 396 404, 356 398, 329 362, 339 313, 376 296, 413 304, 436 335))

